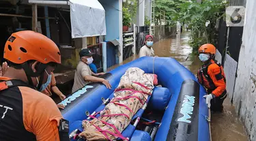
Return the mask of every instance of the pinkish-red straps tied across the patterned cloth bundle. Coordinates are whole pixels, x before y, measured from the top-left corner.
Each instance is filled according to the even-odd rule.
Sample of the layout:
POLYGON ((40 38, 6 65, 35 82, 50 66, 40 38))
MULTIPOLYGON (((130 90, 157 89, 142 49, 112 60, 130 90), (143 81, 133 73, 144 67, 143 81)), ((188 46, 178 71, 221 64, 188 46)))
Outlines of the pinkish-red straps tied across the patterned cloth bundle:
MULTIPOLYGON (((141 87, 144 87, 145 89, 150 89, 149 87, 146 87, 145 85, 142 85, 141 83, 138 83, 138 82, 132 82, 132 83, 136 83, 137 85, 140 85, 141 87)), ((139 98, 138 96, 132 96, 133 94, 135 93, 141 93, 141 94, 147 94, 145 92, 142 92, 142 91, 136 91, 134 89, 129 89, 129 88, 126 88, 126 89, 116 89, 115 92, 120 92, 120 91, 132 91, 132 94, 130 94, 129 96, 126 96, 124 97, 125 99, 129 99, 129 98, 137 98, 140 102, 142 102, 141 98, 139 98)), ((151 94, 148 94, 148 95, 151 95, 151 94)), ((143 95, 142 95, 143 96, 143 95)), ((126 107, 128 110, 130 110, 131 113, 133 113, 133 111, 126 105, 124 104, 120 104, 120 103, 117 103, 115 102, 116 100, 122 100, 124 98, 114 98, 113 100, 111 100, 110 103, 113 103, 113 104, 117 104, 119 106, 124 106, 126 107)), ((143 96, 144 99, 147 99, 145 98, 145 96, 143 96)), ((143 104, 143 103, 141 103, 143 104)), ((103 109, 104 110, 104 109, 103 109)), ((89 121, 89 123, 91 123, 91 125, 93 125, 94 127, 96 127, 96 129, 98 130, 98 132, 102 133, 108 140, 111 140, 111 138, 109 138, 109 136, 106 135, 106 133, 108 134, 111 134, 113 136, 117 136, 118 138, 121 138, 122 140, 128 140, 127 138, 125 138, 124 136, 122 136, 122 134, 119 132, 119 130, 117 129, 117 127, 115 127, 115 125, 111 124, 111 123, 107 123, 105 121, 102 121, 100 119, 98 119, 97 117, 94 117, 96 115, 98 115, 102 110, 98 111, 96 114, 94 115, 89 115, 89 117, 93 118, 93 119, 97 119, 98 121, 101 121, 102 123, 104 123, 105 125, 109 125, 111 127, 113 127, 113 129, 115 129, 115 132, 117 132, 117 134, 113 133, 113 132, 110 132, 108 130, 103 130, 103 129, 100 129, 100 127, 94 125, 93 123, 91 123, 91 121, 89 121)), ((133 113, 134 114, 134 113, 133 113)), ((125 117, 128 117, 128 119, 130 120, 130 117, 124 113, 119 113, 119 114, 112 114, 112 115, 100 115, 101 117, 113 117, 113 116, 119 116, 119 115, 124 115, 125 117)))

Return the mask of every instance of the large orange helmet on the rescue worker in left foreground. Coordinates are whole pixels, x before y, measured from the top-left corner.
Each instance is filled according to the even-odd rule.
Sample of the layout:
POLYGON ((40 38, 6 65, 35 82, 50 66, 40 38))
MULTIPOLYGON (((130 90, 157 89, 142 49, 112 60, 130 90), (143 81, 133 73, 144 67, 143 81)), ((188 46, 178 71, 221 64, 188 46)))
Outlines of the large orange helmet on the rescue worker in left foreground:
POLYGON ((42 64, 61 63, 57 45, 48 37, 34 31, 12 33, 5 43, 3 58, 15 64, 37 60, 42 64))

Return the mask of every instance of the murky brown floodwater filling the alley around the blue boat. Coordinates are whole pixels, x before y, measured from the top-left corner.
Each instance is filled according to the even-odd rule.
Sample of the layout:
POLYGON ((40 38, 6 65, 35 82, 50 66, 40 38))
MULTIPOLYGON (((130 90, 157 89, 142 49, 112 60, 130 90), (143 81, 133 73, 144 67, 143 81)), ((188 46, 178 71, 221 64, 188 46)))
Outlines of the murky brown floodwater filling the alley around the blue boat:
MULTIPOLYGON (((190 56, 192 47, 187 44, 188 33, 177 34, 173 39, 164 39, 154 43, 153 49, 156 56, 175 58, 180 64, 196 74, 201 66, 198 56, 190 56)), ((126 64, 138 58, 132 56, 122 64, 126 64)), ((118 64, 109 68, 116 68, 118 64)), ((223 113, 214 113, 211 118, 212 141, 247 141, 246 132, 242 123, 236 116, 235 107, 231 105, 229 98, 225 99, 223 113)))

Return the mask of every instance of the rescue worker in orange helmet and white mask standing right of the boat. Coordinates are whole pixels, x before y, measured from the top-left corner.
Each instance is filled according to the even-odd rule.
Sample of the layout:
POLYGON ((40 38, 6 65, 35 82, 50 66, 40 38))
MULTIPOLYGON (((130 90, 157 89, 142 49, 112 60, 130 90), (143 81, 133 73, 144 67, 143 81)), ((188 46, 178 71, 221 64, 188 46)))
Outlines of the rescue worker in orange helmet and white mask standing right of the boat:
POLYGON ((203 66, 199 68, 197 77, 199 83, 203 85, 208 94, 203 96, 206 99, 208 108, 213 111, 223 111, 223 101, 227 98, 226 79, 223 66, 218 64, 215 58, 216 47, 207 43, 199 47, 199 59, 203 66))

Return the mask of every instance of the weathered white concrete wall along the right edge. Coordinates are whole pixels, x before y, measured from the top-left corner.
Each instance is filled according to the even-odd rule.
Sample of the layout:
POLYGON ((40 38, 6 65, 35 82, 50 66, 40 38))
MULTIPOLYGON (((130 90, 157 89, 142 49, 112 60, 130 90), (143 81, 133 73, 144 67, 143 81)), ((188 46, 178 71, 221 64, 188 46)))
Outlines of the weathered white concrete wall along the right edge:
POLYGON ((238 61, 238 77, 233 93, 236 111, 250 140, 256 140, 256 1, 246 3, 246 22, 238 61))

